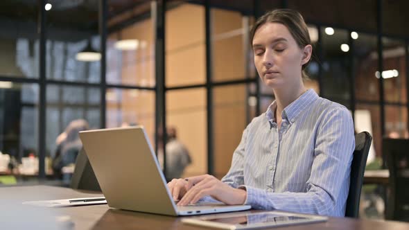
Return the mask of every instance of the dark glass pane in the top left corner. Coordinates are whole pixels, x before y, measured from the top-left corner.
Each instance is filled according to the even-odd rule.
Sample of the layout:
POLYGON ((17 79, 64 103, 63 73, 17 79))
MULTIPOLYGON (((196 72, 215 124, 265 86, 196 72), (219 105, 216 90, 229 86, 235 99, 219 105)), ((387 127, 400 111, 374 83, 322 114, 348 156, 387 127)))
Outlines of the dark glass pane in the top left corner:
POLYGON ((0 76, 38 78, 38 2, 2 1, 0 5, 0 76))

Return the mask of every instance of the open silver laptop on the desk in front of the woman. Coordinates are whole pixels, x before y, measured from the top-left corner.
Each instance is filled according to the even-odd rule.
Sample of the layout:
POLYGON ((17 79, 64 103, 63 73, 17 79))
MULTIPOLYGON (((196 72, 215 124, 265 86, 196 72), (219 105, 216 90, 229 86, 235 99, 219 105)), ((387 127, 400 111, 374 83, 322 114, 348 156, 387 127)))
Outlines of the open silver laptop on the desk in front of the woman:
POLYGON ((82 131, 80 139, 112 208, 173 216, 251 209, 219 203, 176 206, 142 126, 82 131))

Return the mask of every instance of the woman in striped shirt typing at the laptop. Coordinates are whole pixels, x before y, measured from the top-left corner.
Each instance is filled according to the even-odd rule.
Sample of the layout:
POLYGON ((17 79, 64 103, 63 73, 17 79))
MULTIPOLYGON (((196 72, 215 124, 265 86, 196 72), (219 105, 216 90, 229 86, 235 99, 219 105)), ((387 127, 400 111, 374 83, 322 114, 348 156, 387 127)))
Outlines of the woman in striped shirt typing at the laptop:
POLYGON ((354 152, 348 109, 303 82, 312 46, 294 10, 272 10, 252 28, 254 64, 275 101, 243 132, 221 181, 211 175, 168 183, 178 205, 210 196, 254 209, 344 216, 354 152))

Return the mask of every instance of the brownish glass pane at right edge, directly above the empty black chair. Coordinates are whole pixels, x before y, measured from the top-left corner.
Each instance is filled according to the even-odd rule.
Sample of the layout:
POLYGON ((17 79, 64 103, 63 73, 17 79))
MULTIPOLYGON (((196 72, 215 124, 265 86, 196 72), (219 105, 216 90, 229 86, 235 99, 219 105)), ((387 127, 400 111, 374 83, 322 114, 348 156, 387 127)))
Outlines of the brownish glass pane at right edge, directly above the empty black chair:
POLYGON ((385 105, 385 133, 389 138, 409 138, 406 106, 385 105))

